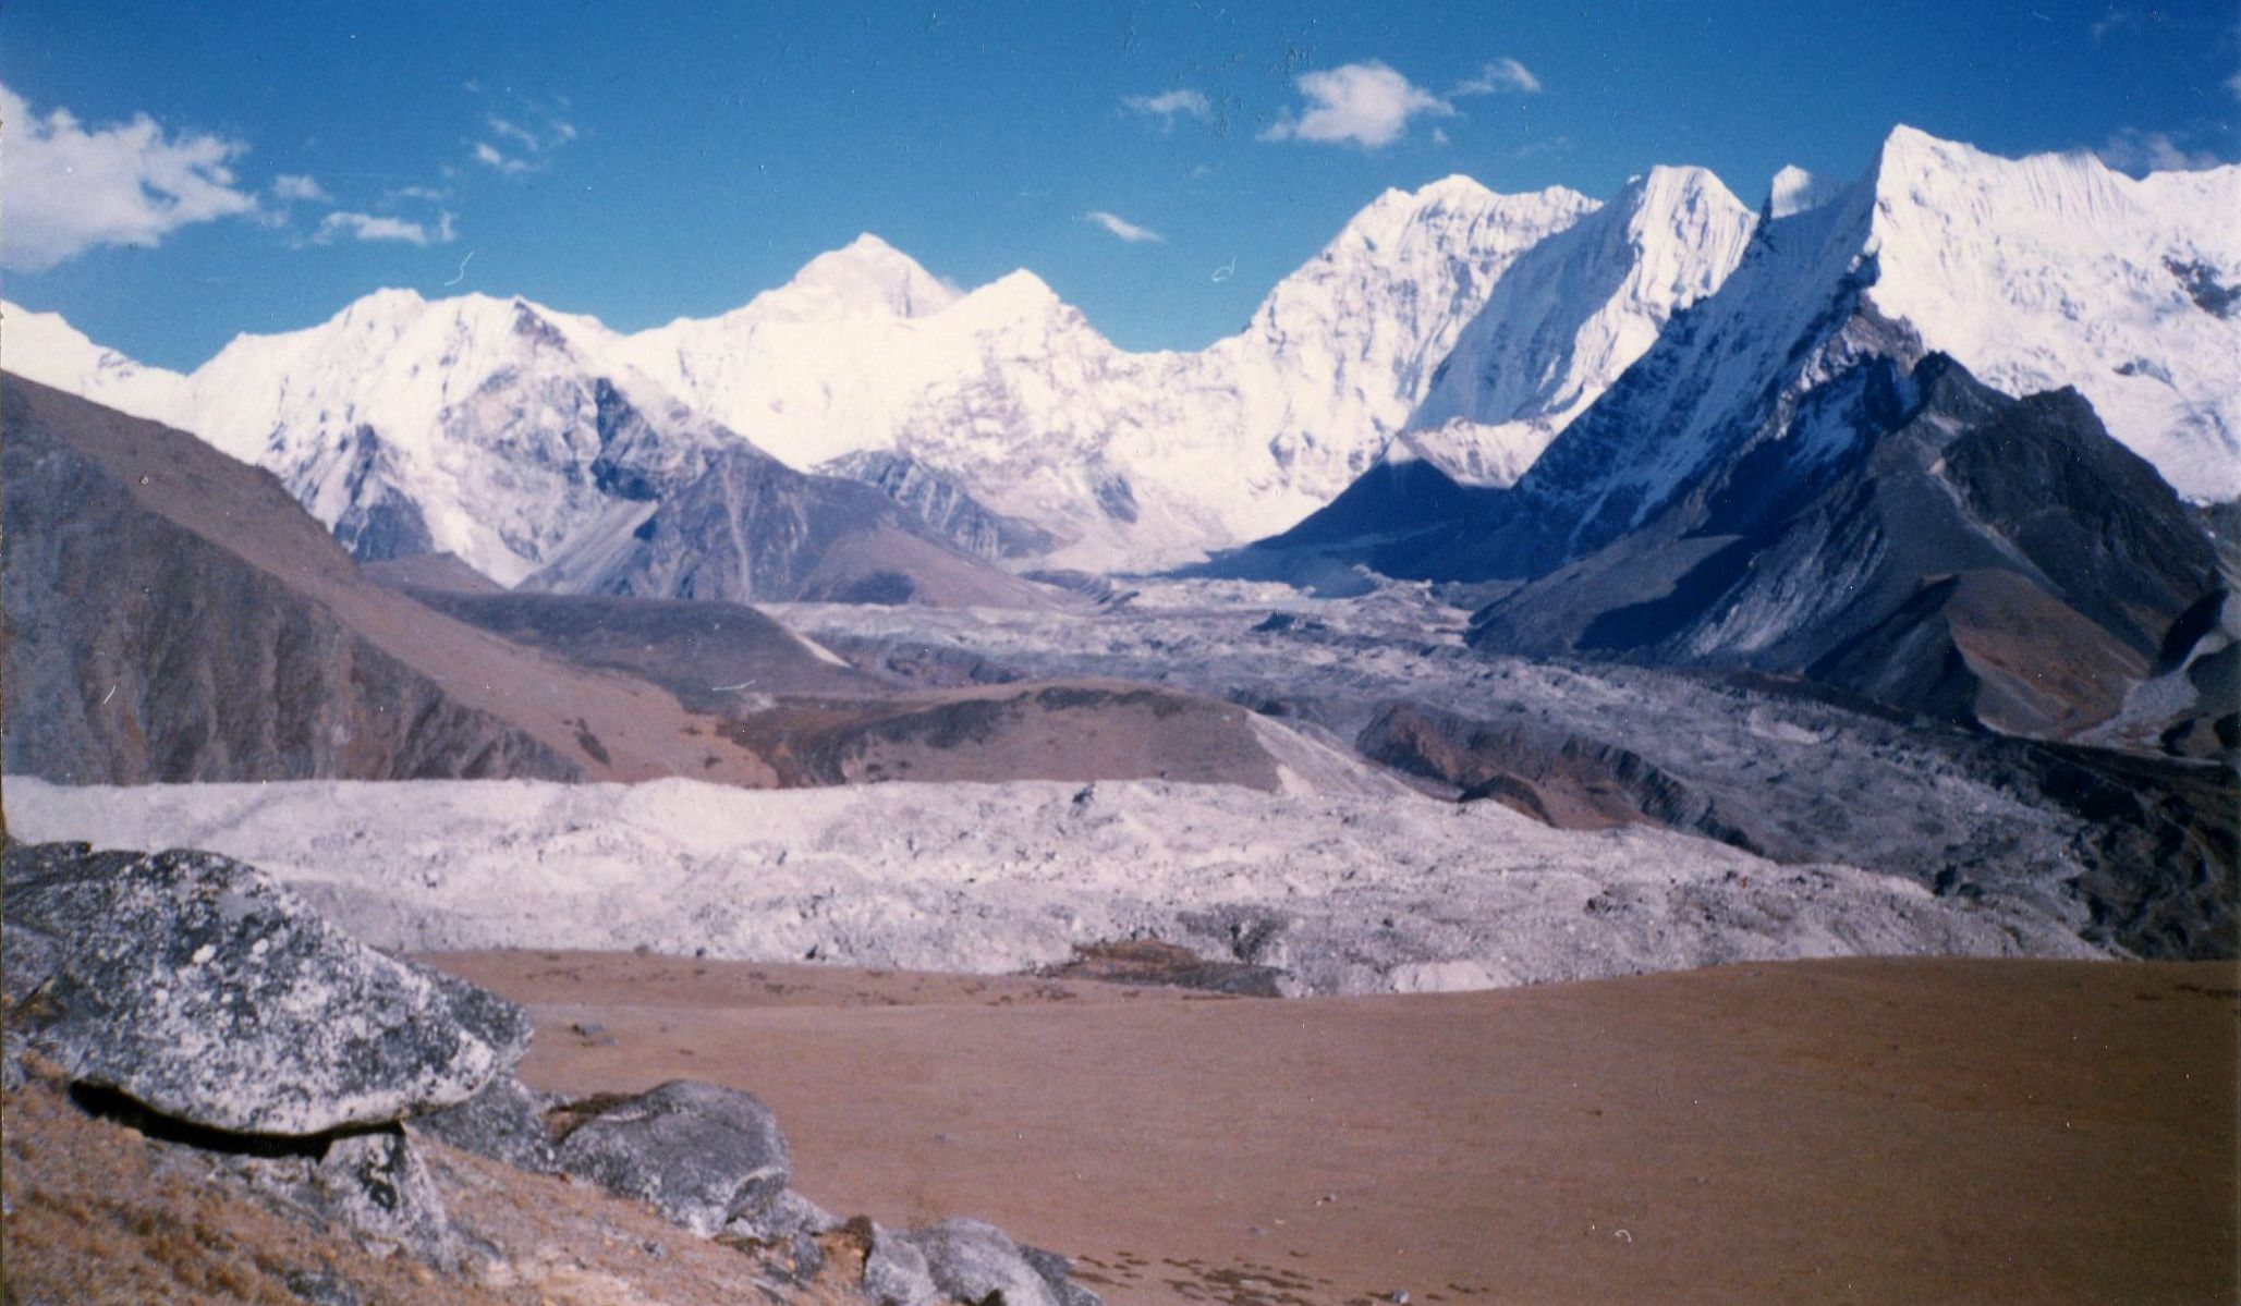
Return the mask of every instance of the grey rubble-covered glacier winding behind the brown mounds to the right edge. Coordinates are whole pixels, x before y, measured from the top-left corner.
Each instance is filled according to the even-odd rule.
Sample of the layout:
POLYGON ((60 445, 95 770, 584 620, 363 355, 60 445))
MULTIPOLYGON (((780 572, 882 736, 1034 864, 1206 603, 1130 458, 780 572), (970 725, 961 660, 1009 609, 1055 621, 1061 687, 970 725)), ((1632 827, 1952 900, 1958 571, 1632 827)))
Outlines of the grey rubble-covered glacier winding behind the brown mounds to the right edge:
POLYGON ((1488 654, 1468 645, 1484 594, 1351 580, 1358 594, 1315 598, 1275 582, 1132 578, 1094 621, 769 612, 885 674, 1112 677, 1228 697, 1439 793, 1555 824, 1663 824, 1782 865, 2057 903, 2048 909, 2086 941, 2138 957, 2241 952, 2241 782, 2225 764, 1909 719, 1773 677, 1488 654), (1452 773, 1423 766, 1392 748, 1396 708, 1459 721, 1490 748, 1452 773))

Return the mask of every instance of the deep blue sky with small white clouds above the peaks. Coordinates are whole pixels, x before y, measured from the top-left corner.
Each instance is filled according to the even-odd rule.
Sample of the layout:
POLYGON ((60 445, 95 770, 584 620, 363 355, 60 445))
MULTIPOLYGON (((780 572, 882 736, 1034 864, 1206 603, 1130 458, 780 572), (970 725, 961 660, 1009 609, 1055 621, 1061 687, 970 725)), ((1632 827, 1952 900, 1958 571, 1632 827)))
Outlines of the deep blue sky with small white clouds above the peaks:
POLYGON ((383 284, 708 316, 874 231, 1197 347, 1380 188, 1448 172, 1607 195, 1703 164, 1757 204, 1898 121, 2232 159, 2234 29, 2228 0, 9 0, 0 291, 190 367, 383 284))

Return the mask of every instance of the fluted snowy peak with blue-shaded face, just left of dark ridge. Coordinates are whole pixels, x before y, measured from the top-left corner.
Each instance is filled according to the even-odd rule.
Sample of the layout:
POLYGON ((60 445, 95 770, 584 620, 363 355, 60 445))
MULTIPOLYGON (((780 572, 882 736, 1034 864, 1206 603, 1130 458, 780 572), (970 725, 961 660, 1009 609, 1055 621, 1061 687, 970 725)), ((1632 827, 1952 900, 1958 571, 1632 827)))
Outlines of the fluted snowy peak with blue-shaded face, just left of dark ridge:
POLYGON ((1457 336, 1396 453, 1510 484, 1674 311, 1719 289, 1752 213, 1703 168, 1652 168, 1510 264, 1457 336))

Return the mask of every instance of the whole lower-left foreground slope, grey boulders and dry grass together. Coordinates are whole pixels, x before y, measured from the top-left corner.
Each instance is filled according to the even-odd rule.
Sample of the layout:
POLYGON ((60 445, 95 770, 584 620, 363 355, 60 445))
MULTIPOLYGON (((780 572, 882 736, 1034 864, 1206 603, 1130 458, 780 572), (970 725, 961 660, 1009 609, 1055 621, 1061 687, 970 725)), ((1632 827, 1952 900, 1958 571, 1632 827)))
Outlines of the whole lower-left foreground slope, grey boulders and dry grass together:
MULTIPOLYGON (((827 1214, 789 1187, 778 1120, 737 1089, 531 1093, 513 1078, 518 1006, 359 943, 242 862, 85 845, 4 858, 9 1299, 134 1299, 164 1275, 155 1295, 193 1299, 648 1299, 524 1234, 558 1185, 578 1212, 585 1190, 643 1203, 728 1252, 713 1284, 771 1302, 1096 1302, 1064 1257, 979 1221, 827 1214), (182 1190, 206 1196, 186 1221, 182 1190), (130 1257, 65 1232, 94 1207, 130 1257), (410 1288, 383 1261, 410 1266, 410 1288), (601 1290, 556 1293, 569 1263, 601 1290)), ((630 1223, 589 1212, 576 1232, 630 1223)), ((677 1243, 639 1250, 661 1263, 677 1243)))

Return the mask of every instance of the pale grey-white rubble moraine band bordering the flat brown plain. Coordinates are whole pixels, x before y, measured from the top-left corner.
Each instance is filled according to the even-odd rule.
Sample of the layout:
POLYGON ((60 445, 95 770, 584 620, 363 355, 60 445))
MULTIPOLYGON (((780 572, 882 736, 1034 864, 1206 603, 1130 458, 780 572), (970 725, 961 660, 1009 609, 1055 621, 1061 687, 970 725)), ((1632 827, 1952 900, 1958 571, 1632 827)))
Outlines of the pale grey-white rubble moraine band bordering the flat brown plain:
POLYGON ((408 952, 650 950, 1022 972, 1163 941, 1286 995, 1468 990, 1721 961, 2093 957, 2059 894, 1936 894, 1643 824, 1219 784, 690 780, 9 786, 27 838, 255 862, 408 952))

